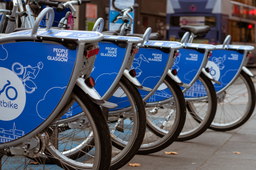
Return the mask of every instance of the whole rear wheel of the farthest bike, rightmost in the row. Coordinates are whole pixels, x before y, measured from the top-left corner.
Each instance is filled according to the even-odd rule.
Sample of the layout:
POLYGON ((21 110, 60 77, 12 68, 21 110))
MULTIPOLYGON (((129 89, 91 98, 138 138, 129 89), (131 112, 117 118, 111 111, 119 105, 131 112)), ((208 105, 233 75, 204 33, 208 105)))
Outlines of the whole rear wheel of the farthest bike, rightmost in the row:
POLYGON ((210 129, 233 130, 243 125, 252 115, 256 103, 255 87, 244 71, 223 92, 218 94, 218 107, 210 129))

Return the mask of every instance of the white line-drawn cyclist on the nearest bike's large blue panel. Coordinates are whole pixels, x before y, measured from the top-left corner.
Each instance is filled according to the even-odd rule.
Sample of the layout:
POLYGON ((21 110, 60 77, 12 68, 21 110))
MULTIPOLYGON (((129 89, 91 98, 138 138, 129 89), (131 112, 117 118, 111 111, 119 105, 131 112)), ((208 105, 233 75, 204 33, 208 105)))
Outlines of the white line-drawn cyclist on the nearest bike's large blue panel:
POLYGON ((15 62, 12 65, 12 71, 17 75, 22 75, 23 78, 20 77, 20 80, 23 82, 23 86, 25 88, 26 93, 31 94, 37 88, 35 83, 31 79, 35 79, 39 73, 39 71, 43 68, 43 63, 38 62, 37 67, 32 67, 28 65, 27 67, 23 67, 20 63, 15 62), (27 71, 29 69, 29 71, 27 71), (31 78, 31 79, 30 79, 31 78))

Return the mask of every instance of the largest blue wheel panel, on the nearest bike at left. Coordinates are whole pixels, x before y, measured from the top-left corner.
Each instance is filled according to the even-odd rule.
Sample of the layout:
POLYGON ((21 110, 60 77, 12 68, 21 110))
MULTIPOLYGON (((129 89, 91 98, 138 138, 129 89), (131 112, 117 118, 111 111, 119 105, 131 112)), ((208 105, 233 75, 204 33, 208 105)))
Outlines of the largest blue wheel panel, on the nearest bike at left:
POLYGON ((26 135, 47 119, 67 88, 76 54, 40 42, 0 45, 0 143, 26 135))

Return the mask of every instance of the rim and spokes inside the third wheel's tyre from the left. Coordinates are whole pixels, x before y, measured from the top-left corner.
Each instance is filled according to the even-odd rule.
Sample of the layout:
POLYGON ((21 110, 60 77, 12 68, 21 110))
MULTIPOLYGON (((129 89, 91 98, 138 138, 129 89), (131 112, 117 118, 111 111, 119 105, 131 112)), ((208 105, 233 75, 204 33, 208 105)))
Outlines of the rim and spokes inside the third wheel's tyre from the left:
MULTIPOLYGON (((173 133, 177 129, 177 125, 179 123, 180 114, 180 106, 177 100, 177 97, 173 97, 173 101, 171 103, 167 103, 162 105, 161 102, 164 100, 176 95, 174 89, 169 83, 164 80, 163 84, 169 88, 170 93, 161 101, 157 103, 154 102, 154 105, 146 105, 146 113, 147 113, 147 124, 149 124, 154 130, 157 130, 159 133, 163 134, 163 137, 159 137, 152 132, 148 127, 146 129, 145 137, 143 140, 143 144, 141 145, 141 150, 150 149, 152 147, 157 147, 159 144, 165 142, 169 138, 173 136, 173 133), (155 112, 157 110, 157 113, 155 112)), ((155 92, 155 94, 160 93, 161 91, 155 92)), ((150 100, 150 99, 148 99, 150 100)), ((150 103, 148 103, 150 104, 150 103)))

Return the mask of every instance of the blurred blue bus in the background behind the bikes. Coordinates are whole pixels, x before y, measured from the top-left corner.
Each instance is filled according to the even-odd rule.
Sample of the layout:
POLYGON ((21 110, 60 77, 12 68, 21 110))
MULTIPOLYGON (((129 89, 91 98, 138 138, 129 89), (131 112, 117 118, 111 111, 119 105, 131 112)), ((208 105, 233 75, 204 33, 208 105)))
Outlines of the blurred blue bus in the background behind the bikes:
MULTIPOLYGON (((166 40, 180 41, 185 31, 180 26, 210 26, 211 30, 193 42, 222 44, 231 35, 230 44, 256 48, 256 0, 167 0, 166 40)), ((256 66, 256 51, 249 64, 256 66)))

